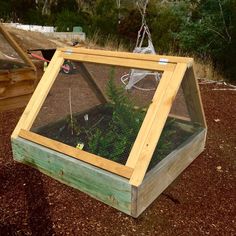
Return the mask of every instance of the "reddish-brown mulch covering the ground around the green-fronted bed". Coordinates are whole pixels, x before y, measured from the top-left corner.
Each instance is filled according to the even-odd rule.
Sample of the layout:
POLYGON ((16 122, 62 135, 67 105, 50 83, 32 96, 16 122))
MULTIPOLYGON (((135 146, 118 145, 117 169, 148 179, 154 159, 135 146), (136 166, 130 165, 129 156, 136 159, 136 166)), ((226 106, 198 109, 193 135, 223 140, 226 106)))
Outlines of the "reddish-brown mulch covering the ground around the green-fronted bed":
POLYGON ((236 93, 201 85, 205 151, 138 218, 12 160, 22 109, 0 113, 0 235, 235 235, 236 93))

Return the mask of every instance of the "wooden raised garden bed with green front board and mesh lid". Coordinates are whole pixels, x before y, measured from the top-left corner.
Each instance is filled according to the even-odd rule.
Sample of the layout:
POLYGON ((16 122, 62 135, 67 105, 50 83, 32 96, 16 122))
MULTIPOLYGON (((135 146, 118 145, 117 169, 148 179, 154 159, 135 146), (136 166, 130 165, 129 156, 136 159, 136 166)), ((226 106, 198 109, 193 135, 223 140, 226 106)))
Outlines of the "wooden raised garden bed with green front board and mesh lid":
MULTIPOLYGON (((133 217, 138 217, 203 151, 205 145, 206 123, 193 74, 193 61, 190 58, 165 57, 166 63, 163 64, 162 59, 156 55, 88 49, 58 50, 12 134, 14 159, 133 217), (118 129, 111 124, 116 103, 113 107, 101 105, 78 113, 73 124, 72 119, 68 121, 64 117, 47 126, 32 128, 64 59, 79 61, 81 74, 90 81, 90 86, 102 104, 106 103, 106 98, 88 71, 85 71, 82 62, 163 72, 147 112, 143 115, 139 113, 137 121, 128 122, 130 127, 136 127, 133 131, 137 132, 129 132, 128 127, 127 136, 119 127, 119 122, 118 129), (169 116, 180 85, 190 116, 187 120, 169 116), (85 121, 86 116, 89 117, 88 121, 85 121), (110 130, 111 127, 115 128, 110 130), (105 149, 106 155, 102 154, 100 149, 100 146, 104 147, 105 141, 97 142, 99 145, 95 145, 96 151, 93 151, 93 135, 97 132, 91 132, 91 138, 88 134, 90 129, 99 130, 100 141, 107 142, 108 137, 111 137, 112 148, 105 149), (119 138, 120 134, 124 139, 119 138), (126 137, 134 138, 130 140, 126 137), (117 146, 124 140, 125 145, 129 145, 123 145, 123 152, 120 152, 117 146), (83 148, 75 147, 81 143, 84 144, 83 148), (120 157, 114 159, 112 154, 119 152, 120 157)), ((133 112, 130 108, 125 111, 126 114, 133 112)))

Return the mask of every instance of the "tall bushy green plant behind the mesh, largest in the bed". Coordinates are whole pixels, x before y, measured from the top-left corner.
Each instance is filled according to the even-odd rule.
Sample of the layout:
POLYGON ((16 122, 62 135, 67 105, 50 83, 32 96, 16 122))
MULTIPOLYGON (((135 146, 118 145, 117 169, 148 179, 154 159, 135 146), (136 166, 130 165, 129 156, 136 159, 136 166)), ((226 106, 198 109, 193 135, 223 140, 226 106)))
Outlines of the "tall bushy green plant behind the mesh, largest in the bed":
POLYGON ((90 152, 120 162, 127 157, 144 118, 141 110, 134 110, 124 91, 115 85, 111 74, 107 86, 110 99, 107 109, 112 111, 111 119, 106 130, 96 128, 88 143, 90 152))

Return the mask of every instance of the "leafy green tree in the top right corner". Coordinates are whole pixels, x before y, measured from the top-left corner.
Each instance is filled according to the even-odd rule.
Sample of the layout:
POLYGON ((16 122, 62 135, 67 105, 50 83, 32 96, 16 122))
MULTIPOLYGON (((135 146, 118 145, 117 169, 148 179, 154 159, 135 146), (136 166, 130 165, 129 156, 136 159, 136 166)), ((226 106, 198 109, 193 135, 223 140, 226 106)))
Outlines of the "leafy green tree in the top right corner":
POLYGON ((210 58, 215 67, 235 79, 232 57, 236 55, 236 1, 202 0, 175 6, 182 19, 174 33, 181 51, 210 58), (180 6, 185 5, 184 8, 180 6))

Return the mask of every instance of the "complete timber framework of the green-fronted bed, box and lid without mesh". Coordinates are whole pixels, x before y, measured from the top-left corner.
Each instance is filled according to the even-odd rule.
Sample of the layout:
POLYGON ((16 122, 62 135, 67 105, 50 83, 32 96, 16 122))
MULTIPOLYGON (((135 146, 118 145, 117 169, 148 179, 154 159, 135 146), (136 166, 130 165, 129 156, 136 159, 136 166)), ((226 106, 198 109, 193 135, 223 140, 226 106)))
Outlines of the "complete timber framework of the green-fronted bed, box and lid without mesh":
POLYGON ((206 130, 192 58, 61 48, 54 54, 11 138, 15 160, 138 217, 203 151, 206 130), (106 97, 83 62, 163 72, 125 165, 30 131, 64 60, 80 62, 81 74, 102 103, 106 102, 106 97), (183 88, 191 121, 202 129, 146 174, 180 86, 183 88))

